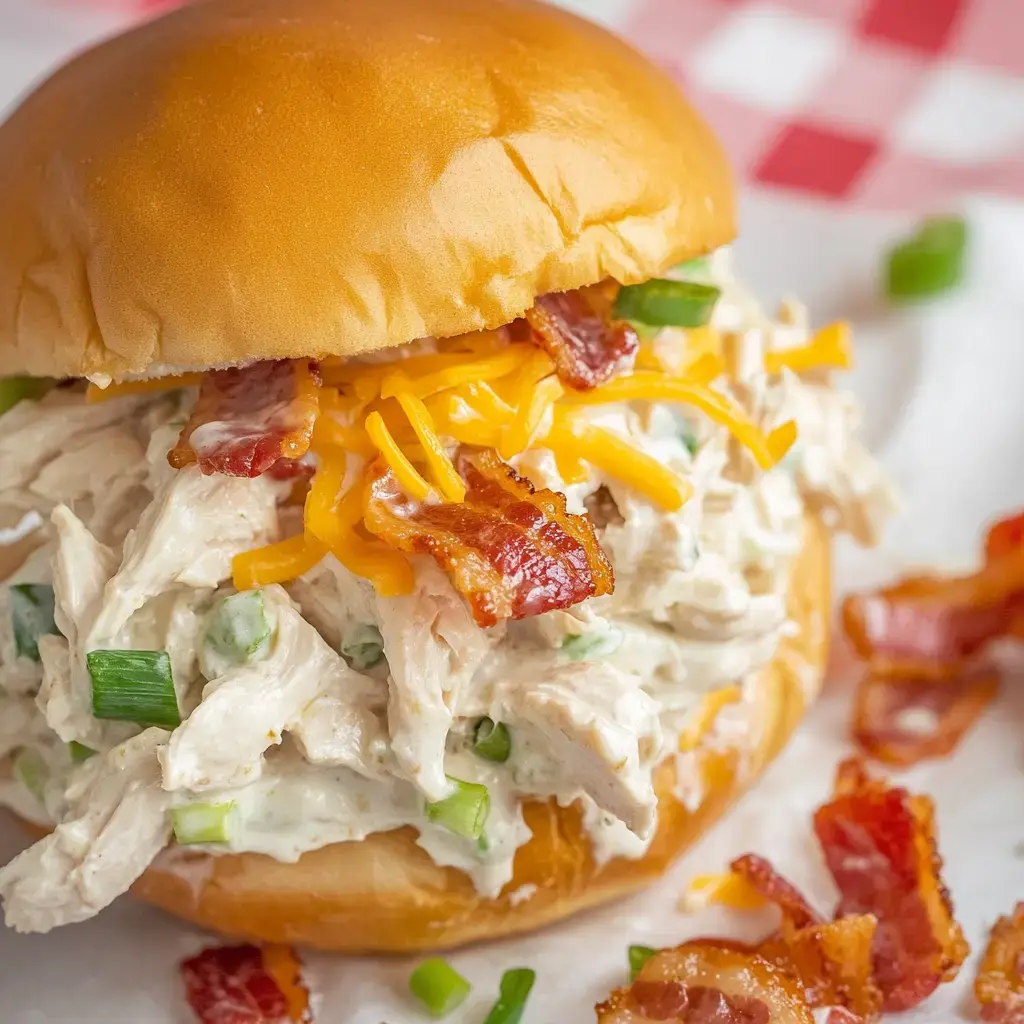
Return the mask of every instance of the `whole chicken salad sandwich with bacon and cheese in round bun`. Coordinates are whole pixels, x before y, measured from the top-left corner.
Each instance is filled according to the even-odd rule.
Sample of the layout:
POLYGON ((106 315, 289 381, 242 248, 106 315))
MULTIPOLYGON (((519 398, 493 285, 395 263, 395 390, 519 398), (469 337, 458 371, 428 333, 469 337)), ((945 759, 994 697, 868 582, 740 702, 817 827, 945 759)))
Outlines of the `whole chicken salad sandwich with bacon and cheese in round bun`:
POLYGON ((200 0, 24 99, 0 222, 10 927, 532 929, 816 694, 890 504, 849 331, 736 283, 719 144, 604 30, 200 0))

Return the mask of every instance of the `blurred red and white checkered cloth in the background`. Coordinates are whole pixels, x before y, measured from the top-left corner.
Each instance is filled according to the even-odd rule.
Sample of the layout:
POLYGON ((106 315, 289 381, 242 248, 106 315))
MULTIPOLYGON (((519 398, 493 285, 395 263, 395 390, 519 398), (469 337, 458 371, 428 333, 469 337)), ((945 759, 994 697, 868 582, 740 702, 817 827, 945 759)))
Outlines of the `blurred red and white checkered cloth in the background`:
POLYGON ((748 187, 913 212, 1024 197, 1024 0, 558 2, 667 68, 748 187))

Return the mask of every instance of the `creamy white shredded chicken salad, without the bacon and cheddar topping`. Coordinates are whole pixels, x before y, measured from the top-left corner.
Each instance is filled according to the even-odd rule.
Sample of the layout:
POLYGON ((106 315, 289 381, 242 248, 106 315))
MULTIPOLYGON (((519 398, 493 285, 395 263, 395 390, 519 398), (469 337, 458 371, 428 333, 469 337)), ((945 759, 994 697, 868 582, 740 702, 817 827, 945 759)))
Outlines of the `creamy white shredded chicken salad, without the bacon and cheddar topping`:
MULTIPOLYGON (((236 592, 232 557, 299 531, 301 509, 269 475, 168 466, 191 391, 86 403, 57 388, 0 418, 0 527, 43 522, 0 591, 0 803, 55 825, 0 869, 7 924, 89 918, 172 842, 293 861, 403 825, 496 896, 529 838, 528 798, 581 802, 600 862, 643 854, 665 758, 699 804, 680 737, 709 692, 771 659, 805 509, 870 542, 892 500, 826 375, 764 371, 766 351, 810 341, 803 312, 767 319, 725 252, 701 272, 722 288, 713 326, 731 345, 716 387, 766 429, 796 420, 797 444, 762 473, 695 410, 589 408, 693 497, 666 512, 594 469, 566 484, 550 452, 523 453, 520 473, 590 512, 615 589, 489 629, 425 556, 406 596, 378 596, 332 555, 236 592), (173 714, 97 718, 111 651, 162 652, 173 714)), ((692 338, 666 329, 650 344, 681 367, 692 338)), ((743 721, 725 709, 715 729, 734 741, 743 721)))

